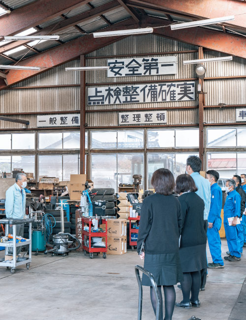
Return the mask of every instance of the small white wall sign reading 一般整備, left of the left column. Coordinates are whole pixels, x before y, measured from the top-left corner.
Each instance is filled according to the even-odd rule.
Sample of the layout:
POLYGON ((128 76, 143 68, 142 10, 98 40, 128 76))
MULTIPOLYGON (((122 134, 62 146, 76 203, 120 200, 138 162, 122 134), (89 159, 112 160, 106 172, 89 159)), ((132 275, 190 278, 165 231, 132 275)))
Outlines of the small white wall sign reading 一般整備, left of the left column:
POLYGON ((37 116, 37 127, 78 127, 80 114, 52 114, 37 116))

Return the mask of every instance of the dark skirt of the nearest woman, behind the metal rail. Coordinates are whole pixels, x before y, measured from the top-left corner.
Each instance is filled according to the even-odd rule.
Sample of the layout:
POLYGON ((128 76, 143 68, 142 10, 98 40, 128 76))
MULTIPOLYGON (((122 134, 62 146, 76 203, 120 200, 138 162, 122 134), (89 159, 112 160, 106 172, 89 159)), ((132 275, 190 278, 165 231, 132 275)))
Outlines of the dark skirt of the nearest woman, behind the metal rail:
MULTIPOLYGON (((145 254, 144 268, 153 274, 157 286, 173 286, 183 280, 179 253, 145 254)), ((152 287, 148 276, 143 274, 142 285, 152 287)))

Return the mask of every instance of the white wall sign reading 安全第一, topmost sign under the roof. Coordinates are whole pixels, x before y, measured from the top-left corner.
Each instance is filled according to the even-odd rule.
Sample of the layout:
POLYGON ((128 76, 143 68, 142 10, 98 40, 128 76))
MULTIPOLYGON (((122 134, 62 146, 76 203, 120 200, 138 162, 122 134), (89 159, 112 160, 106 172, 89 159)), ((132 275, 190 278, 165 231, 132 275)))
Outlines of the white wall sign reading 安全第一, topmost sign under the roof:
POLYGON ((108 77, 176 74, 177 56, 108 60, 108 77))

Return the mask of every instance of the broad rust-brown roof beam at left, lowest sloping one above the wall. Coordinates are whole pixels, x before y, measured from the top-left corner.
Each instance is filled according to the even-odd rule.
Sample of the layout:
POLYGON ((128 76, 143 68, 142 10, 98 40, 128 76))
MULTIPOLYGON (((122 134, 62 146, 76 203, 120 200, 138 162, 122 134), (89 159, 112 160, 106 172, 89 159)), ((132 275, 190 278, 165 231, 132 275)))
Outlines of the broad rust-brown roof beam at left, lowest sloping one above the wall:
MULTIPOLYGON (((124 20, 123 22, 114 24, 113 26, 107 27, 104 30, 112 31, 119 29, 132 29, 136 27, 137 24, 135 23, 135 21, 132 18, 130 18, 124 20)), ((123 38, 123 36, 94 38, 93 34, 88 34, 83 37, 64 43, 61 46, 54 47, 43 53, 27 58, 18 63, 18 65, 38 65, 41 67, 41 70, 9 70, 6 74, 8 85, 11 86, 17 82, 23 81, 39 73, 45 72, 49 68, 56 67, 60 64, 64 64, 68 61, 74 60, 78 58, 80 55, 88 54, 92 51, 95 51, 101 47, 109 45, 123 38)), ((6 85, 0 83, 0 89, 4 89, 5 87, 6 85)))

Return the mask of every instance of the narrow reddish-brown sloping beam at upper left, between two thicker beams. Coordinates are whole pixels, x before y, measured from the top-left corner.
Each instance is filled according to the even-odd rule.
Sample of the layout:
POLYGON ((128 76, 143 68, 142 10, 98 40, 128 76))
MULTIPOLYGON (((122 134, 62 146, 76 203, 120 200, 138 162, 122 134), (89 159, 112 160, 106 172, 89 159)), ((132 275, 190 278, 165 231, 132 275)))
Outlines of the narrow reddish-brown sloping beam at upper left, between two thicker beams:
MULTIPOLYGON (((88 20, 91 20, 103 13, 110 12, 112 10, 115 10, 117 8, 120 8, 121 5, 117 1, 111 1, 109 3, 103 4, 99 7, 96 7, 90 11, 83 12, 77 16, 74 16, 72 18, 64 19, 64 21, 59 22, 58 24, 54 24, 52 26, 49 26, 47 28, 44 28, 42 30, 38 30, 37 32, 33 33, 32 35, 46 35, 56 32, 61 32, 62 30, 65 30, 69 27, 72 27, 76 24, 86 22, 88 20)), ((12 14, 12 13, 11 13, 12 14)), ((0 54, 4 53, 8 50, 12 50, 14 48, 17 48, 21 45, 28 44, 29 41, 14 41, 12 43, 7 43, 5 46, 0 47, 0 54)))

